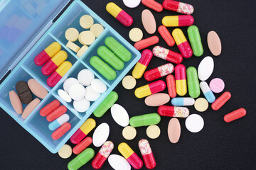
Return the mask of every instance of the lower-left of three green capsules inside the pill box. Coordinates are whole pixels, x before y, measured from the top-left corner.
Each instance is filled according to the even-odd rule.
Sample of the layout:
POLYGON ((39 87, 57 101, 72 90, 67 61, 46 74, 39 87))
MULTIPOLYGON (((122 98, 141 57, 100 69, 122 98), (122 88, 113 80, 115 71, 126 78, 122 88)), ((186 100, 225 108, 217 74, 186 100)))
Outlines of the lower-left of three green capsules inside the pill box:
POLYGON ((117 77, 117 73, 114 72, 114 69, 112 69, 108 64, 103 62, 99 57, 93 56, 90 59, 90 64, 92 67, 95 67, 102 76, 104 76, 108 80, 113 80, 117 77))

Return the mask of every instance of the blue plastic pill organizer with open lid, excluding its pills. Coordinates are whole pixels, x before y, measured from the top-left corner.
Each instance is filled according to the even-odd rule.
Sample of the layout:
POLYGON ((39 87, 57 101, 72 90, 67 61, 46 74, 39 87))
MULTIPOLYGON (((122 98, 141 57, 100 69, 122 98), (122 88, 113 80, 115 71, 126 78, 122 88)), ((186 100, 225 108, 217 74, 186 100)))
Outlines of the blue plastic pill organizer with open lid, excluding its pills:
MULTIPOLYGON (((58 152, 60 147, 87 120, 95 108, 110 94, 141 57, 139 51, 80 0, 73 1, 60 18, 55 23, 52 23, 53 18, 58 15, 66 4, 68 4, 68 0, 0 1, 0 78, 4 77, 9 70, 12 70, 11 74, 0 85, 0 106, 52 153, 58 152), (65 30, 71 27, 76 28, 79 32, 85 30, 79 23, 80 17, 85 14, 92 16, 95 23, 100 23, 105 30, 79 58, 75 52, 65 47, 68 40, 65 39, 64 34, 65 30), (129 62, 124 62, 124 69, 116 70, 117 77, 112 81, 105 79, 90 65, 90 57, 97 56, 97 47, 105 45, 105 39, 110 36, 114 37, 132 53, 132 59, 129 62), (36 66, 33 60, 36 55, 55 41, 60 43, 61 50, 65 50, 68 53, 67 61, 70 61, 73 67, 60 79, 58 84, 51 88, 46 84, 48 77, 41 73, 41 67, 36 66), (73 108, 73 103, 63 101, 58 96, 57 91, 58 89, 63 89, 65 79, 69 77, 77 78, 78 72, 82 69, 90 69, 95 74, 95 78, 105 82, 107 91, 101 94, 97 101, 90 102, 91 106, 85 113, 78 113, 73 108), (41 100, 41 103, 28 115, 28 118, 23 120, 21 115, 18 115, 11 106, 9 91, 16 91, 16 83, 18 81, 28 81, 28 79, 36 79, 48 90, 48 95, 41 100), (53 131, 48 129, 49 122, 46 117, 42 117, 39 114, 41 108, 55 99, 58 99, 61 104, 68 108, 67 114, 70 116, 68 122, 72 125, 72 128, 59 140, 52 139, 51 134, 53 131)), ((79 46, 81 47, 80 44, 79 46)), ((33 98, 36 98, 36 96, 33 95, 33 98)), ((26 108, 25 104, 23 104, 24 108, 26 108)))

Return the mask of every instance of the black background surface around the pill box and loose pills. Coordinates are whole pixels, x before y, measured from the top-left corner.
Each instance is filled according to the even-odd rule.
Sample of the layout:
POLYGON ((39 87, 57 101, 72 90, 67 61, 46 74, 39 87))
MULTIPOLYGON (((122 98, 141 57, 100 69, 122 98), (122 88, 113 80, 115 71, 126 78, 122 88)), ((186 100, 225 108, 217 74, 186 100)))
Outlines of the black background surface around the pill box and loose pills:
MULTIPOLYGON (((144 31, 144 38, 148 38, 142 26, 141 13, 147 7, 140 4, 137 8, 127 8, 122 0, 114 1, 118 6, 127 11, 133 18, 134 23, 126 28, 115 20, 105 10, 109 1, 106 0, 85 0, 95 13, 110 24, 126 40, 129 40, 129 30, 138 27, 144 31)), ((159 1, 158 2, 162 2, 159 1)), ((220 109, 213 111, 208 108, 206 112, 198 113, 193 106, 188 107, 191 113, 198 113, 205 121, 203 130, 192 133, 186 130, 185 119, 179 119, 181 123, 181 138, 177 144, 169 142, 167 136, 167 125, 170 118, 161 118, 159 128, 161 135, 156 140, 151 140, 146 136, 146 127, 137 128, 137 137, 132 141, 124 140, 122 129, 114 122, 110 111, 102 118, 95 118, 97 125, 108 123, 110 125, 110 137, 108 140, 114 142, 112 154, 119 154, 117 146, 120 142, 127 144, 134 149, 139 156, 138 142, 142 138, 149 140, 156 159, 156 169, 255 169, 256 166, 256 130, 255 130, 255 0, 247 1, 206 1, 193 0, 183 1, 192 4, 195 8, 193 17, 194 25, 198 26, 201 39, 203 41, 204 54, 201 57, 191 57, 185 59, 183 64, 186 67, 198 67, 203 57, 208 55, 213 57, 215 62, 214 72, 207 80, 219 77, 225 81, 225 91, 230 91, 232 98, 220 109), (223 51, 220 56, 211 55, 207 46, 207 33, 215 30, 220 36, 223 51), (238 108, 245 108, 247 115, 232 123, 225 123, 223 116, 238 108)), ((156 18, 157 26, 161 26, 161 18, 168 15, 177 15, 171 11, 164 10, 157 13, 150 9, 156 18)), ((187 28, 182 28, 186 38, 187 28)), ((174 28, 169 28, 171 32, 174 28)), ((155 33, 160 38, 159 45, 168 47, 159 33, 155 33)), ((150 50, 152 47, 149 48, 150 50)), ((178 52, 176 45, 170 47, 178 52)), ((157 57, 153 57, 149 67, 152 69, 161 64, 167 63, 157 57)), ((129 72, 131 74, 131 72, 129 72)), ((165 81, 166 77, 163 78, 165 81)), ((144 78, 137 81, 137 86, 147 84, 144 78)), ((142 115, 145 113, 155 113, 157 108, 144 104, 144 99, 134 96, 133 90, 126 90, 119 84, 114 91, 119 94, 117 103, 127 109, 129 116, 142 115)), ((164 92, 167 93, 167 90, 164 92)), ((186 95, 188 96, 188 95, 186 95)), ((220 94, 215 94, 216 97, 220 94)), ((203 94, 201 94, 203 97, 203 94)), ((21 128, 15 120, 1 109, 1 152, 0 169, 67 169, 67 164, 75 157, 73 154, 69 159, 61 159, 58 154, 51 154, 40 142, 38 142, 26 130, 21 128)), ((92 137, 93 130, 90 132, 92 137)), ((68 144, 71 145, 70 142, 68 144)), ((73 145, 71 145, 73 147, 73 145)), ((100 148, 90 146, 97 154, 100 148)), ((141 156, 140 156, 141 157, 141 156)), ((81 169, 92 169, 91 162, 88 162, 81 169)), ((111 169, 108 162, 102 169, 111 169)), ((146 169, 143 166, 142 169, 146 169)))

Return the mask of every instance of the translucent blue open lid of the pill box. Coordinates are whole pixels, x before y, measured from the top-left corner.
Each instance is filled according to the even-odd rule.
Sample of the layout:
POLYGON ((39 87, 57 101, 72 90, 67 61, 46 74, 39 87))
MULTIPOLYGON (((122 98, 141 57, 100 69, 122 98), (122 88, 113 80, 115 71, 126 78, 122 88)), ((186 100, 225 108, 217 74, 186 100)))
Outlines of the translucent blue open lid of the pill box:
POLYGON ((33 47, 69 0, 0 0, 0 79, 33 47))

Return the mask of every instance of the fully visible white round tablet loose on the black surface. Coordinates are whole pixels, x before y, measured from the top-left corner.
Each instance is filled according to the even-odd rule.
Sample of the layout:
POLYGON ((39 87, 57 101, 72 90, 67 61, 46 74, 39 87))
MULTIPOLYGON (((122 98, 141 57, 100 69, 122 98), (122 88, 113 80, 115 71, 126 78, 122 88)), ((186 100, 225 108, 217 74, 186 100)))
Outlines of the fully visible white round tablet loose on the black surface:
POLYGON ((189 115, 186 118, 185 125, 190 132, 199 132, 203 129, 203 118, 198 114, 189 115))

